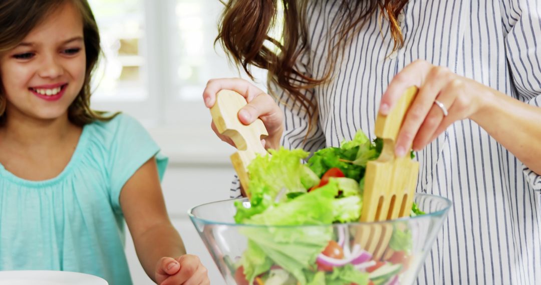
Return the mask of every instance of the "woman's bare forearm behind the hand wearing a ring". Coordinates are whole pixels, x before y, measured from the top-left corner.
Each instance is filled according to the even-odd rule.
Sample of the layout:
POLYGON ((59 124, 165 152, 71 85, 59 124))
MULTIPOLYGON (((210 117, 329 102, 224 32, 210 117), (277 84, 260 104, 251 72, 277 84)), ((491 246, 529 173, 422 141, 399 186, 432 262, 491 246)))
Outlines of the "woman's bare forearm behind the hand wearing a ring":
POLYGON ((471 117, 528 168, 541 174, 541 108, 484 85, 485 104, 471 117))

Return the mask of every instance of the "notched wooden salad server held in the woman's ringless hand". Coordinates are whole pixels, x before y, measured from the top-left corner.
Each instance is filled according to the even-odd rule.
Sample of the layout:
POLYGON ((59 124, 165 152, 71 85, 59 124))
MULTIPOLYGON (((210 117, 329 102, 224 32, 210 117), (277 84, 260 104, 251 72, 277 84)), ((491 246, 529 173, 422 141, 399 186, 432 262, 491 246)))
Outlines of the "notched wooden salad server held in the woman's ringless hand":
POLYGON ((231 90, 221 90, 216 94, 216 103, 210 108, 210 114, 219 133, 235 142, 237 152, 231 155, 233 168, 239 177, 240 184, 248 198, 248 165, 256 154, 267 154, 261 144, 261 138, 268 135, 261 119, 250 125, 239 120, 239 110, 247 104, 246 98, 231 90))

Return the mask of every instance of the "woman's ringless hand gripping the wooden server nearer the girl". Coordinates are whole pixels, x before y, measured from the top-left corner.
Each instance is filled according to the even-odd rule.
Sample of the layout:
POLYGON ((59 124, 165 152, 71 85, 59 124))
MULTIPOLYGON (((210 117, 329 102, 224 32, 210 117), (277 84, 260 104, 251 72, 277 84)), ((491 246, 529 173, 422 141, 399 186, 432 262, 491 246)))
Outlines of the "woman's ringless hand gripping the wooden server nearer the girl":
MULTIPOLYGON (((278 148, 283 133, 283 113, 274 99, 258 87, 241 78, 210 79, 203 91, 203 100, 207 108, 214 106, 216 93, 220 90, 233 90, 246 98, 248 104, 239 111, 239 120, 242 124, 252 124, 260 118, 267 128, 268 137, 263 140, 265 148, 278 148)), ((216 135, 228 144, 235 146, 233 141, 220 134, 214 123, 211 124, 216 135)))

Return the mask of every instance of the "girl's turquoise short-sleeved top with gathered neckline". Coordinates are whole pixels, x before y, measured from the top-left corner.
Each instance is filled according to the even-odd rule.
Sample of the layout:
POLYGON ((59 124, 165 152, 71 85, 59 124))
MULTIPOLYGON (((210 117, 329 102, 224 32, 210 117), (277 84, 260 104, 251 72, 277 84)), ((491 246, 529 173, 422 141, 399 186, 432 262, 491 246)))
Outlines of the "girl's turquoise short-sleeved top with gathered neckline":
POLYGON ((0 164, 0 270, 65 270, 131 284, 124 254, 120 191, 156 157, 160 179, 167 158, 133 118, 84 126, 58 177, 29 181, 0 164))

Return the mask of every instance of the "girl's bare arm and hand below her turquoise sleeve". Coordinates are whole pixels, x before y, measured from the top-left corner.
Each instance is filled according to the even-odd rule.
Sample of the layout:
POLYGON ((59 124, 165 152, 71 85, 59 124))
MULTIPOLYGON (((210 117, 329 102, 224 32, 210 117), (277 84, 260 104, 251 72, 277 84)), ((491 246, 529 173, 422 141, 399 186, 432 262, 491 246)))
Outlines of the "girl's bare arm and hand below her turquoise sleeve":
POLYGON ((126 182, 120 205, 145 272, 159 284, 208 284, 199 258, 186 254, 171 225, 160 186, 156 160, 151 158, 126 182))

